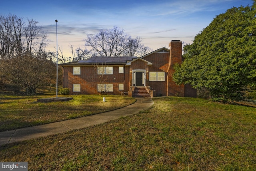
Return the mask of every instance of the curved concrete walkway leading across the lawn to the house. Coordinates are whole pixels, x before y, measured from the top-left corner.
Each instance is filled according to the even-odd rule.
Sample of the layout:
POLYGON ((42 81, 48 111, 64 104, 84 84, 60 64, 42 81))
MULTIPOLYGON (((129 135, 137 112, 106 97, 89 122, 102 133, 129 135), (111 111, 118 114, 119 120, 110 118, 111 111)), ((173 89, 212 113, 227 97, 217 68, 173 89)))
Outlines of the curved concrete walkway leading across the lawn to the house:
POLYGON ((92 125, 98 125, 106 121, 118 119, 128 115, 136 114, 139 111, 148 109, 154 104, 151 98, 136 98, 137 101, 132 105, 128 105, 121 109, 99 113, 96 115, 70 119, 45 125, 38 125, 34 127, 26 127, 11 131, 0 132, 0 145, 13 143, 17 141, 24 141, 48 135, 64 133, 72 129, 80 129, 92 125))

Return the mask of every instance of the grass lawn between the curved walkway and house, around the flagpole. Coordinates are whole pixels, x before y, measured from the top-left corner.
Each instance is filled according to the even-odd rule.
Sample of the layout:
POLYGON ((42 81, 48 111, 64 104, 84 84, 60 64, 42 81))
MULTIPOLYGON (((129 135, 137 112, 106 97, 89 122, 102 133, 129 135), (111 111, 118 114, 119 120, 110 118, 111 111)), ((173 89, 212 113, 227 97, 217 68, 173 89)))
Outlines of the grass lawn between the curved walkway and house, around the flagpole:
MULTIPOLYGON (((42 125, 111 111, 136 101, 118 95, 73 95, 71 101, 38 103, 52 95, 16 96, 0 94, 0 131, 42 125), (103 102, 106 97, 106 102, 103 102)), ((59 97, 64 97, 61 95, 59 97)))

